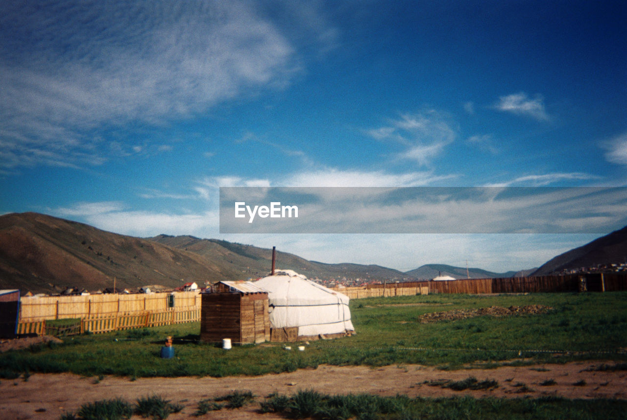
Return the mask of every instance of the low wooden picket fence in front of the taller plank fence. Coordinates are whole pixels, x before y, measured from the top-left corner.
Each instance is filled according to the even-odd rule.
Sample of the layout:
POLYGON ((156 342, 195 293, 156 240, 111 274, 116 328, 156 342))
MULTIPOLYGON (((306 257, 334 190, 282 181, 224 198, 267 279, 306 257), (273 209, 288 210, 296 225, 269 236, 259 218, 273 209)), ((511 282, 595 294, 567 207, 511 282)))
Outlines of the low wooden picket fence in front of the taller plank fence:
POLYGON ((37 335, 71 335, 91 332, 94 334, 129 330, 130 328, 158 327, 200 320, 200 308, 167 309, 159 312, 122 313, 115 315, 97 315, 82 318, 75 328, 46 326, 46 321, 19 322, 18 334, 36 333, 37 335), (63 332, 61 332, 63 330, 63 332))

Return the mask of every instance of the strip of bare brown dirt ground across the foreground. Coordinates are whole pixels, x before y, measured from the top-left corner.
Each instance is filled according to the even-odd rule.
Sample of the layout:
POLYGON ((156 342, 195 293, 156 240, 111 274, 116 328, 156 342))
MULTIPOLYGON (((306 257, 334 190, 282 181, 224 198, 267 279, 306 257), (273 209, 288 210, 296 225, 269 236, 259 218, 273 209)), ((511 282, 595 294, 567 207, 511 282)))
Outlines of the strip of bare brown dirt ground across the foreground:
POLYGON ((22 377, 0 381, 0 419, 58 419, 64 412, 76 412, 82 404, 88 402, 122 397, 134 403, 137 398, 152 395, 184 405, 181 412, 168 417, 173 420, 283 418, 272 413, 259 414, 259 404, 250 404, 236 410, 209 412, 201 417, 193 416, 199 401, 223 396, 232 391, 252 391, 257 396, 257 401, 263 401, 263 397, 271 392, 292 394, 300 389, 314 389, 325 394, 367 392, 381 396, 404 394, 409 397, 470 395, 627 399, 627 371, 594 370, 601 364, 603 362, 597 361, 448 371, 421 365, 379 368, 320 365, 317 369, 255 377, 139 378, 135 381, 126 377, 104 377, 98 380, 95 377, 73 374, 33 374, 27 381, 22 377), (478 381, 493 379, 498 382, 498 387, 480 391, 453 391, 433 383, 461 381, 470 376, 478 381), (549 380, 554 381, 554 384, 549 384, 549 380))

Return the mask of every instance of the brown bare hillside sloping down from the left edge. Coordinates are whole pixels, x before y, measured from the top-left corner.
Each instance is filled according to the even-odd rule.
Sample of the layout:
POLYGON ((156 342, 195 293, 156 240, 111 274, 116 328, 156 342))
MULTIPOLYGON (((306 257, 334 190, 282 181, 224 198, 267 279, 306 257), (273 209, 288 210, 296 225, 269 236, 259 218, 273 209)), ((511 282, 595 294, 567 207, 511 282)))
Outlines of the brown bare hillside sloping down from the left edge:
POLYGON ((221 259, 38 213, 0 216, 0 288, 52 293, 236 278, 221 259))

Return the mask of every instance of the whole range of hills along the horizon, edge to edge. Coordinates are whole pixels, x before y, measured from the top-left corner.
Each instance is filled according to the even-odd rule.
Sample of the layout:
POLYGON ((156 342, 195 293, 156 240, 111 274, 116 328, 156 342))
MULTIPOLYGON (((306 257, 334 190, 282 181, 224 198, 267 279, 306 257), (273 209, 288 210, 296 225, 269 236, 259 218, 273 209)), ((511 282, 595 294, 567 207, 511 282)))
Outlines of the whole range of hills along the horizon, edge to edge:
MULTIPOLYGON (((586 255, 593 255, 590 258, 618 255, 619 249, 627 248, 627 228, 618 232, 611 234, 616 234, 611 244, 600 241, 603 238, 597 239, 598 245, 612 249, 611 253, 595 254, 598 248, 593 246, 577 251, 574 261, 587 261, 586 255)), ((569 252, 573 251, 576 249, 569 252)), ((524 276, 530 271, 539 273, 553 266, 561 269, 573 260, 561 257, 553 259, 559 259, 554 265, 547 266, 551 260, 538 270, 517 273, 436 264, 403 273, 379 265, 320 263, 277 251, 277 267, 322 281, 429 280, 438 274, 494 278, 524 276)), ((271 249, 247 244, 164 234, 135 238, 40 213, 0 216, 0 288, 19 288, 22 293, 58 293, 66 287, 96 291, 112 288, 114 284, 130 290, 148 285, 176 288, 191 281, 204 286, 219 280, 258 278, 267 275, 270 268, 271 249)))

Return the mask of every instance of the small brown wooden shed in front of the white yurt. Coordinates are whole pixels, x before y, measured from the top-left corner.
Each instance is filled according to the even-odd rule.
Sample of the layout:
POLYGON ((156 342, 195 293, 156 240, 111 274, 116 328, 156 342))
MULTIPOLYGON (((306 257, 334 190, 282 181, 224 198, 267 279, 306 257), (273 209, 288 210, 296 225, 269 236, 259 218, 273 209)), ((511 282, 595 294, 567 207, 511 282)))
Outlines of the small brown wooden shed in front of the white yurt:
POLYGON ((270 340, 267 291, 250 281, 219 281, 201 296, 202 341, 254 344, 270 340))

